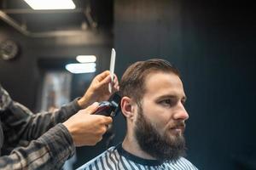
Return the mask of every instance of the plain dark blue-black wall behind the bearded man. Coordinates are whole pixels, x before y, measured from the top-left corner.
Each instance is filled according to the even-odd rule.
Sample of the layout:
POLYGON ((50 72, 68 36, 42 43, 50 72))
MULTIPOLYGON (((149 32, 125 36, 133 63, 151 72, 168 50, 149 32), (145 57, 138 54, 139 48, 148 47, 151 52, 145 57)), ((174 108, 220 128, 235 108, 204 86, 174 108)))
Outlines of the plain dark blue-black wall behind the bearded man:
MULTIPOLYGON (((116 1, 119 77, 127 65, 162 58, 183 75, 188 159, 200 169, 256 169, 255 18, 248 3, 116 1), (254 164, 255 166, 255 164, 254 164)), ((116 121, 124 127, 122 116, 116 121)), ((116 130, 116 143, 125 130, 116 130)))

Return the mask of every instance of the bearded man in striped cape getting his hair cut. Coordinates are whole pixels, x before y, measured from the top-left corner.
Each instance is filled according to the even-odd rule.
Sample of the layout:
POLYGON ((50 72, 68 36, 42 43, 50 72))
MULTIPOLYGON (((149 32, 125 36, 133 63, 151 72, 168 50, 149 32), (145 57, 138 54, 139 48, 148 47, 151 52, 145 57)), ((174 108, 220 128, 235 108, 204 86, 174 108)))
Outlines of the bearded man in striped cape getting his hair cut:
POLYGON ((120 82, 127 133, 122 144, 79 169, 197 169, 183 156, 189 118, 179 73, 163 59, 131 65, 120 82))

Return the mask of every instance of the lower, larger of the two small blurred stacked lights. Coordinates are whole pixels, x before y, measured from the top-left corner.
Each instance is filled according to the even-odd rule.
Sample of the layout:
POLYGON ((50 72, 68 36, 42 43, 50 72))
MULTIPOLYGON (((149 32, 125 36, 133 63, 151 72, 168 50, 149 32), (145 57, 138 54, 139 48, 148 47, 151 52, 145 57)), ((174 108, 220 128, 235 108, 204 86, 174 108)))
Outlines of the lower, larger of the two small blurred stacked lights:
POLYGON ((96 64, 95 63, 75 63, 75 64, 68 64, 65 66, 67 71, 72 72, 73 74, 79 73, 90 73, 96 71, 96 64))

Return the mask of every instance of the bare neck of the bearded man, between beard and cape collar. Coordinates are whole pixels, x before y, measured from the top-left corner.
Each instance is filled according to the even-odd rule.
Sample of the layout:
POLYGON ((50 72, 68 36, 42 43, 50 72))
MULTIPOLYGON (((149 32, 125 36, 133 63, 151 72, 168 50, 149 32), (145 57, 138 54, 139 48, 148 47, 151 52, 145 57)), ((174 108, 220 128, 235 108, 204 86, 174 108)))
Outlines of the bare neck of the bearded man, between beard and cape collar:
POLYGON ((129 137, 128 135, 125 136, 125 139, 123 141, 122 147, 127 152, 131 153, 134 156, 141 157, 143 159, 148 160, 155 160, 154 157, 148 155, 145 151, 141 149, 139 144, 137 144, 137 140, 134 138, 129 137))

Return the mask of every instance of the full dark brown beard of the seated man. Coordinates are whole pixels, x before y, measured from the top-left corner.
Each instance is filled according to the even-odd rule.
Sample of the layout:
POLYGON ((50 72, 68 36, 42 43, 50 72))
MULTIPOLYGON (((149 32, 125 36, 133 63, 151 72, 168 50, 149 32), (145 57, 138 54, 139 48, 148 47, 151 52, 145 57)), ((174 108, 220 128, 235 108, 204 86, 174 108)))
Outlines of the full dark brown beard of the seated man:
POLYGON ((135 138, 140 148, 160 161, 177 161, 185 155, 183 135, 160 135, 157 129, 143 116, 143 109, 138 105, 138 116, 135 127, 135 138))

